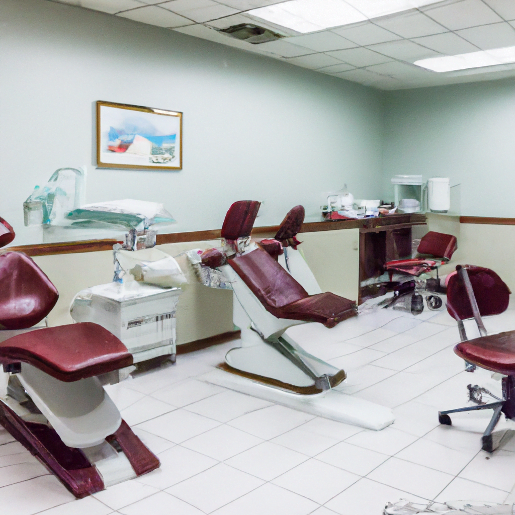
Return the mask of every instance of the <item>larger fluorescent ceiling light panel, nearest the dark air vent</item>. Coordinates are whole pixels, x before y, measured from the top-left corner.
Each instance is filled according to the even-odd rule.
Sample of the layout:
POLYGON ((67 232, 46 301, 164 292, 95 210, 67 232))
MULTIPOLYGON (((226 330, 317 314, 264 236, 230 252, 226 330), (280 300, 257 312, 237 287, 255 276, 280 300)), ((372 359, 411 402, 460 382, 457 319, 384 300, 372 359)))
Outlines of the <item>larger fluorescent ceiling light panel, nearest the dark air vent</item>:
POLYGON ((330 27, 371 20, 441 0, 289 0, 247 11, 255 18, 297 32, 315 32, 330 27))

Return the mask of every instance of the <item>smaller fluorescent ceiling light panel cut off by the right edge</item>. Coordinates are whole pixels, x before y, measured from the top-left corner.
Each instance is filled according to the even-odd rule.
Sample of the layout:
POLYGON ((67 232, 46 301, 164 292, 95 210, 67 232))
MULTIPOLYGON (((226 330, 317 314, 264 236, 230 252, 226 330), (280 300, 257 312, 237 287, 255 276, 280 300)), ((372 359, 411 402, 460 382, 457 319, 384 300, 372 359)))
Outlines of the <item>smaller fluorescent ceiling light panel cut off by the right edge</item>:
POLYGON ((509 63, 515 63, 515 46, 480 50, 479 52, 458 54, 456 56, 432 57, 431 59, 415 61, 413 64, 426 68, 426 70, 442 73, 509 63))

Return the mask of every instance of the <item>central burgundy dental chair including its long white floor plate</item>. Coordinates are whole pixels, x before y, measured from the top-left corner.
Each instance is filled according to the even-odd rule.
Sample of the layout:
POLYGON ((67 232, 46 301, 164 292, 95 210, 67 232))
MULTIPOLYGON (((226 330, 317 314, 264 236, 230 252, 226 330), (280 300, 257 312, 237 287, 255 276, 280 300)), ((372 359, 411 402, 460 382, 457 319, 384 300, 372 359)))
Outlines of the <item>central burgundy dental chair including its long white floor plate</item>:
MULTIPOLYGON (((306 322, 333 328, 356 316, 356 304, 329 292, 310 295, 276 261, 284 255, 278 254, 276 243, 252 241, 250 233, 259 206, 259 202, 250 200, 232 204, 221 230, 224 247, 202 254, 203 265, 217 268, 232 286, 233 321, 241 328, 242 340, 219 366, 226 372, 225 377, 208 374, 206 379, 334 420, 376 430, 386 427, 393 422, 391 410, 332 392, 346 379, 345 371, 307 353, 288 334, 288 328, 306 322), (276 249, 272 252, 275 255, 270 255, 267 247, 276 249), (227 372, 240 379, 236 381, 233 375, 230 380, 227 372)), ((278 234, 283 236, 282 241, 293 241, 297 229, 278 234)), ((283 246, 282 250, 288 255, 289 247, 283 246)), ((303 259, 300 254, 299 258, 303 259)))

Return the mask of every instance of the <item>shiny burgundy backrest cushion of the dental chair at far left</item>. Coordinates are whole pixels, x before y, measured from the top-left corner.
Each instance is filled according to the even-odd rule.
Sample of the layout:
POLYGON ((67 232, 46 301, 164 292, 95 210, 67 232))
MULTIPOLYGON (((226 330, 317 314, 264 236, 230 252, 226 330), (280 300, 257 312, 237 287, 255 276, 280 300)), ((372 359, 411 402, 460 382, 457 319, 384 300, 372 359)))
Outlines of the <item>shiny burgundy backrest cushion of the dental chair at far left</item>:
POLYGON ((27 329, 55 306, 59 293, 43 271, 22 252, 0 254, 0 325, 27 329))

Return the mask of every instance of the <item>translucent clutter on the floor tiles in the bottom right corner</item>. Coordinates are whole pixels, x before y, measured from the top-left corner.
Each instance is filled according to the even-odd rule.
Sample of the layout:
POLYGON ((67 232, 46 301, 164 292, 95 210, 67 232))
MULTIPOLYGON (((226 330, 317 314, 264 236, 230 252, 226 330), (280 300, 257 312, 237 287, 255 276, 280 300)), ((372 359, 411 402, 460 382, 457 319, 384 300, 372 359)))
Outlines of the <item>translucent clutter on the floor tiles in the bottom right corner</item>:
POLYGON ((515 515, 515 504, 483 503, 478 501, 447 501, 416 504, 401 499, 387 503, 384 515, 416 515, 417 513, 439 513, 440 515, 515 515))

